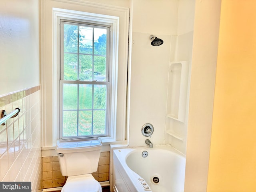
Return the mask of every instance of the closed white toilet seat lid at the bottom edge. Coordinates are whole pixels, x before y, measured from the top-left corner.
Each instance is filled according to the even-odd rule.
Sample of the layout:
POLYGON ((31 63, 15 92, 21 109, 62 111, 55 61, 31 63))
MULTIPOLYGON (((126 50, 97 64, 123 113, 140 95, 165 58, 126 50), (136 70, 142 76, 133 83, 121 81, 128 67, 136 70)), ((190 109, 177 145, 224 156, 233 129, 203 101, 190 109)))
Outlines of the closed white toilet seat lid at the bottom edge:
POLYGON ((69 176, 61 192, 102 192, 92 174, 69 176))

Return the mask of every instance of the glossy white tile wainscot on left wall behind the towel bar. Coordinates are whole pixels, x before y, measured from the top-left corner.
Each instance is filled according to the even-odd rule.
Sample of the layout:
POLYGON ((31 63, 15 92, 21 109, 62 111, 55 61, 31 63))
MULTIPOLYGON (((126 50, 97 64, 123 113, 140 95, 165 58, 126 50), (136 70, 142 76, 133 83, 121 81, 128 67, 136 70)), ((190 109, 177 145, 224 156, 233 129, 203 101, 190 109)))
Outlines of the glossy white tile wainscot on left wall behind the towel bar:
POLYGON ((42 188, 40 90, 0 108, 20 108, 17 117, 0 125, 0 180, 32 182, 42 188))

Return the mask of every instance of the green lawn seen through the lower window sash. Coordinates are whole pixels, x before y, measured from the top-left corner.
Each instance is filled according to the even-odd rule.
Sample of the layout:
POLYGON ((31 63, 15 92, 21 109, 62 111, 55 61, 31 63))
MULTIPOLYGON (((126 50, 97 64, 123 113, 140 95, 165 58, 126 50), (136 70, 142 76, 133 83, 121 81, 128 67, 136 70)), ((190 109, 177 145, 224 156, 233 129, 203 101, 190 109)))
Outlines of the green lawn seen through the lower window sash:
MULTIPOLYGON (((104 103, 104 106, 98 104, 94 93, 94 110, 92 110, 92 85, 82 84, 79 86, 79 91, 77 84, 64 84, 63 86, 63 109, 65 110, 63 111, 63 136, 105 134, 106 110, 102 110, 102 107, 106 104, 104 103), (78 93, 79 104, 77 104, 78 93), (97 108, 99 110, 95 110, 97 108), (93 126, 92 115, 94 119, 93 126)), ((97 88, 94 88, 95 91, 97 91, 97 88)), ((100 95, 100 97, 104 98, 104 95, 100 95)))

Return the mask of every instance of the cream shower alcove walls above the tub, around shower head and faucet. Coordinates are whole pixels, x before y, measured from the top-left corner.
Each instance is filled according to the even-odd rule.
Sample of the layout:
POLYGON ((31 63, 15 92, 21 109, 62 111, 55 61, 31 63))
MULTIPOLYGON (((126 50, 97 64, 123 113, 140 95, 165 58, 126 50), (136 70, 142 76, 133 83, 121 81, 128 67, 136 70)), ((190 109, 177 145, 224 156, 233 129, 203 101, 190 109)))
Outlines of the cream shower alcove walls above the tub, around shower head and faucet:
MULTIPOLYGON (((188 100, 184 123, 166 122, 168 70, 171 62, 188 61, 191 65, 195 1, 172 0, 164 4, 161 10, 155 10, 154 3, 145 1, 132 4, 128 141, 129 146, 143 146, 146 138, 140 129, 143 124, 151 123, 155 128, 150 139, 153 143, 171 144, 186 154, 188 100), (143 11, 141 7, 145 7, 143 11), (151 46, 151 34, 164 40, 164 44, 151 46), (175 126, 184 138, 182 142, 165 134, 169 126, 175 126)), ((191 66, 189 76, 190 70, 191 66)))

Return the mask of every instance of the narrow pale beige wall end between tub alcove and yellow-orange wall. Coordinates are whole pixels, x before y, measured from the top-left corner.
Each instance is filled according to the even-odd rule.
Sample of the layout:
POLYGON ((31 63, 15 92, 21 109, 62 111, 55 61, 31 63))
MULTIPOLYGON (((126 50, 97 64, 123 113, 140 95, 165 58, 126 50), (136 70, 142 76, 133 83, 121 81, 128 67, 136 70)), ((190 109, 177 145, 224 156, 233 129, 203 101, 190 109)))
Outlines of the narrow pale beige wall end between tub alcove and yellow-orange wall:
POLYGON ((220 0, 196 0, 185 192, 206 192, 218 51, 220 0))

